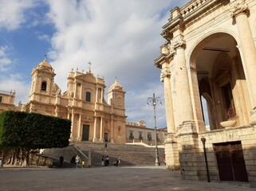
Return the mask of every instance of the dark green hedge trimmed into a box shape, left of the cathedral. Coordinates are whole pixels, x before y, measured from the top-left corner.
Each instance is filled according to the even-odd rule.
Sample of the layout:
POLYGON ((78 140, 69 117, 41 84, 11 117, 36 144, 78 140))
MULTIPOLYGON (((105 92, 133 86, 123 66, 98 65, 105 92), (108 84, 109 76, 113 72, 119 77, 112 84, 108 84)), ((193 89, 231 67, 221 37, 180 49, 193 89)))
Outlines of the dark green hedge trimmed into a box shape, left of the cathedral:
POLYGON ((0 147, 45 149, 69 145, 71 121, 22 111, 0 114, 0 147))

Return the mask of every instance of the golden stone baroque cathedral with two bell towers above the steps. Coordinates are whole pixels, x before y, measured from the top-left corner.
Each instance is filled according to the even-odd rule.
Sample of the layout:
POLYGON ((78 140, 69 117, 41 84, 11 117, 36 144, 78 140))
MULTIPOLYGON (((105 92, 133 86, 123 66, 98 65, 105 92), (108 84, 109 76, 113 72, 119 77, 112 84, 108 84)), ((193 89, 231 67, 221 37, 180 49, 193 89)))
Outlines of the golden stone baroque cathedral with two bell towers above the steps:
POLYGON ((26 111, 70 119, 70 141, 126 142, 125 92, 117 80, 108 89, 106 102, 104 79, 93 76, 90 69, 69 72, 67 91, 63 94, 54 83, 56 73, 46 57, 33 68, 31 76, 28 103, 14 106, 15 92, 2 92, 0 111, 26 111))

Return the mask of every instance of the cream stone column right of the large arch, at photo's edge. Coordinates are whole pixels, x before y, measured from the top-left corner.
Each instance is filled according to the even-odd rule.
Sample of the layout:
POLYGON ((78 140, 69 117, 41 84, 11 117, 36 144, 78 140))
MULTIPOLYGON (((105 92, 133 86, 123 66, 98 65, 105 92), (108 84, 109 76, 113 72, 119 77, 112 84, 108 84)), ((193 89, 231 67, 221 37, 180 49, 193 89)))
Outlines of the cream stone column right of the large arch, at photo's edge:
POLYGON ((242 60, 245 67, 246 81, 249 84, 250 99, 252 102, 252 117, 256 121, 256 49, 254 38, 248 21, 249 9, 245 0, 233 0, 230 2, 230 13, 238 28, 238 36, 241 42, 242 60))

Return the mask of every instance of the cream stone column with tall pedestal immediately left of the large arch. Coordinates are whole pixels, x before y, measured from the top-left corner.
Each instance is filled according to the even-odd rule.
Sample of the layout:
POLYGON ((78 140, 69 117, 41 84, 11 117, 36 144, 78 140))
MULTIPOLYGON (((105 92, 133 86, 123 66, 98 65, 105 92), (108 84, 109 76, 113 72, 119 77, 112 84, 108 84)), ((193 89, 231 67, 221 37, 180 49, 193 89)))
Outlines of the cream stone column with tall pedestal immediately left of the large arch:
MULTIPOLYGON (((179 80, 179 99, 175 101, 178 101, 181 107, 181 117, 183 123, 179 124, 177 134, 170 134, 167 136, 167 142, 179 142, 179 144, 169 144, 169 146, 172 146, 169 148, 169 150, 176 151, 173 153, 173 157, 171 158, 171 163, 173 165, 169 166, 169 168, 174 170, 175 168, 180 168, 182 176, 187 178, 190 175, 198 172, 196 168, 193 168, 193 162, 198 162, 198 159, 196 158, 196 156, 199 154, 198 137, 192 111, 191 87, 187 75, 187 65, 184 50, 186 43, 183 40, 182 35, 179 35, 179 37, 176 37, 175 39, 176 40, 174 43, 172 43, 172 45, 176 51, 175 64, 179 80), (177 140, 175 138, 177 138, 177 140)), ((192 178, 196 179, 198 177, 195 175, 195 177, 193 176, 192 178)))

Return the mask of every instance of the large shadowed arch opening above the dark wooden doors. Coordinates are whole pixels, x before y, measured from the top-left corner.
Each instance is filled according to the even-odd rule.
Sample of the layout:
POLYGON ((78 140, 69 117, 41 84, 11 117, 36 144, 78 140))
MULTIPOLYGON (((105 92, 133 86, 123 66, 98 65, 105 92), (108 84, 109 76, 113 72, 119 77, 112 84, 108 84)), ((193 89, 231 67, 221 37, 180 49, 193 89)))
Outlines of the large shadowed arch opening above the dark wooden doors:
POLYGON ((191 67, 197 72, 198 99, 203 97, 207 102, 206 115, 202 99, 195 100, 201 103, 200 108, 195 108, 201 110, 200 118, 209 123, 211 130, 223 128, 220 123, 226 120, 235 120, 237 126, 248 123, 243 93, 247 91, 246 77, 234 37, 213 33, 195 46, 191 58, 191 67))

